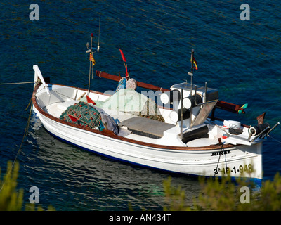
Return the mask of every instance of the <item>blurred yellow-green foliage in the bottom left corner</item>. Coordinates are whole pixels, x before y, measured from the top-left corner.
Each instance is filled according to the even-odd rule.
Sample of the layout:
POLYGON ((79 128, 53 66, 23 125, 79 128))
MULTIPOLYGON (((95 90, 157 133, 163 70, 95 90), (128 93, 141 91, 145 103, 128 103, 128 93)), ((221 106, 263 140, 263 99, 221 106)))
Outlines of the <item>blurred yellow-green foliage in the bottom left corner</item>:
MULTIPOLYGON (((1 179, 0 168, 0 211, 20 211, 23 205, 23 190, 17 191, 17 179, 20 165, 15 162, 13 165, 10 161, 7 163, 7 172, 4 174, 3 180, 1 179)), ((43 211, 41 205, 26 204, 25 210, 27 211, 43 211)), ((48 210, 55 210, 51 205, 48 210)))

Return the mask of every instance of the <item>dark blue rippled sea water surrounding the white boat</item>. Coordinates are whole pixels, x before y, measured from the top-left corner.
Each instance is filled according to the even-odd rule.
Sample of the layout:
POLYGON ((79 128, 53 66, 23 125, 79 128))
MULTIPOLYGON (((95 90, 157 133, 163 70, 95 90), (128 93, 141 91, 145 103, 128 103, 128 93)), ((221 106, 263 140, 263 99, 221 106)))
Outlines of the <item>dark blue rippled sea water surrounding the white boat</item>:
MULTIPOLYGON (((219 117, 256 124, 266 112, 272 126, 281 121, 281 6, 278 1, 1 1, 0 83, 29 82, 39 65, 51 82, 87 88, 86 42, 94 34, 100 52, 95 70, 124 73, 122 49, 131 77, 168 88, 189 79, 190 50, 199 70, 194 82, 219 90, 221 101, 249 103, 247 113, 216 111, 219 117), (30 4, 39 20, 30 20, 30 4), (250 20, 240 20, 249 4, 250 20)), ((91 88, 114 90, 116 82, 94 78, 91 88)), ((0 166, 18 153, 29 116, 25 111, 33 84, 0 85, 0 166)), ((281 129, 272 133, 280 141, 281 129)), ((56 210, 162 210, 162 182, 186 191, 190 203, 197 179, 143 169, 84 152, 54 139, 32 115, 18 155, 18 188, 29 200, 37 186, 40 204, 56 210)), ((281 170, 281 144, 268 138, 263 147, 264 179, 281 170)))

